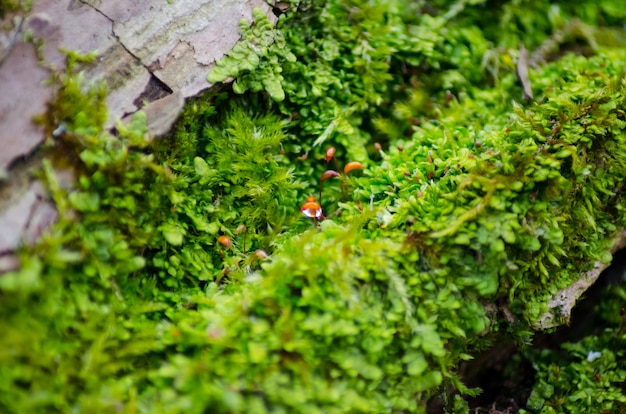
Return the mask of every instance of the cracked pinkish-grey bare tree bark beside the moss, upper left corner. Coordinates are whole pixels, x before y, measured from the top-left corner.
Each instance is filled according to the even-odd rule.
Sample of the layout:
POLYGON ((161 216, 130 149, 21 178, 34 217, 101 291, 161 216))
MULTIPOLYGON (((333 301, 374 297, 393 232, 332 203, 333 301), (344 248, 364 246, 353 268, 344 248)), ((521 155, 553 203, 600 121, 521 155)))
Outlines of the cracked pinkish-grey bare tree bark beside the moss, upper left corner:
POLYGON ((33 117, 54 95, 46 80, 64 69, 61 49, 97 52, 86 79, 107 85, 107 127, 142 109, 158 136, 185 98, 212 86, 208 72, 239 40, 239 22, 250 21, 255 7, 275 21, 264 0, 35 0, 27 15, 6 16, 0 33, 0 274, 17 266, 12 252, 34 242, 56 218, 31 172, 44 139, 33 117))

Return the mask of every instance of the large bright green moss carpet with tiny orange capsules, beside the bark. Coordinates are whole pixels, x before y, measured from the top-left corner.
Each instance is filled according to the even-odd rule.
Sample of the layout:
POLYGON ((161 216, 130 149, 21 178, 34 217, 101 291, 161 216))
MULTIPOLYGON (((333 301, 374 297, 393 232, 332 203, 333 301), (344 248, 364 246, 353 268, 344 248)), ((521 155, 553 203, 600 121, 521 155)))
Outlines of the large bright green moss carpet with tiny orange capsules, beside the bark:
MULTIPOLYGON (((276 29, 255 12, 209 75, 246 94, 193 100, 153 144, 141 114, 103 131, 104 95, 61 76, 47 126, 78 179, 44 163, 59 223, 0 278, 0 408, 424 412, 476 393, 460 361, 528 340, 610 260, 626 178, 624 52, 533 69, 522 107, 517 45, 489 37, 511 16, 484 24, 479 3, 302 2, 276 29), (327 145, 366 169, 318 227, 298 208, 327 145)), ((515 33, 539 44, 559 20, 533 5, 515 33)))

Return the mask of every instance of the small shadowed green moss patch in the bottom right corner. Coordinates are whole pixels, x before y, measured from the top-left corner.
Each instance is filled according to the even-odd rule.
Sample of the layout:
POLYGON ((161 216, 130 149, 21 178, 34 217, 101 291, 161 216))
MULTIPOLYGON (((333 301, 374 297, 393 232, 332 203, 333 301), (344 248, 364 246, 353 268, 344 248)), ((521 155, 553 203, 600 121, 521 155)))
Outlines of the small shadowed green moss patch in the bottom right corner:
POLYGON ((535 383, 525 413, 620 413, 626 410, 622 363, 626 319, 624 284, 606 289, 593 309, 593 335, 560 349, 527 348, 518 358, 530 361, 535 383))

